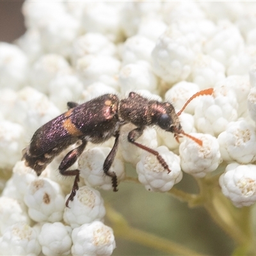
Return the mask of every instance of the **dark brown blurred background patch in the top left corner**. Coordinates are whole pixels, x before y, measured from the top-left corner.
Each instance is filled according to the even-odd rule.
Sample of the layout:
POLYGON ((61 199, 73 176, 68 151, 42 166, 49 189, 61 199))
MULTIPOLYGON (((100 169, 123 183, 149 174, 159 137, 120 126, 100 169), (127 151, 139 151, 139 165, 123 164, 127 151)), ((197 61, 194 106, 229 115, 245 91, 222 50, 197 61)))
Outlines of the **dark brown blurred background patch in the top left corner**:
POLYGON ((0 42, 13 42, 24 34, 24 19, 21 13, 24 1, 0 0, 0 42))

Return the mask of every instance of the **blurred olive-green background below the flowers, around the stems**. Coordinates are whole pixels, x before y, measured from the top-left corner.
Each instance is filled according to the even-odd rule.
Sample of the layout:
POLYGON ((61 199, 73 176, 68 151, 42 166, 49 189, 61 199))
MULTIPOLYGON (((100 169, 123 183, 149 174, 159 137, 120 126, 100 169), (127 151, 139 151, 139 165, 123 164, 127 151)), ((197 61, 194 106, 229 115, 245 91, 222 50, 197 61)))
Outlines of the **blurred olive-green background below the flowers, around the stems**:
MULTIPOLYGON (((136 177, 136 171, 128 166, 128 176, 136 177)), ((197 193, 195 180, 184 173, 175 186, 188 193, 197 193)), ((234 244, 209 217, 205 209, 190 209, 168 193, 148 192, 140 184, 122 182, 118 192, 102 191, 105 202, 120 212, 132 227, 170 239, 205 255, 230 255, 234 244)), ((108 222, 106 222, 108 224, 108 222)), ((164 255, 163 252, 129 243, 116 237, 113 255, 164 255)))

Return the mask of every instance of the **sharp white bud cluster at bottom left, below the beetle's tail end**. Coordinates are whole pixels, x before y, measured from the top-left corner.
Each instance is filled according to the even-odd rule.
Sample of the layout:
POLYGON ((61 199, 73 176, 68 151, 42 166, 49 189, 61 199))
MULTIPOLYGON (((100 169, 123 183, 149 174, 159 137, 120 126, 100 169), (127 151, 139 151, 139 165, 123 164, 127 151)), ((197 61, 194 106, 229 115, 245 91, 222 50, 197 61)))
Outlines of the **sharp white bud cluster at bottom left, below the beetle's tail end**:
POLYGON ((102 222, 99 191, 81 186, 65 207, 63 184, 50 179, 53 171, 49 166, 36 177, 23 161, 15 164, 0 197, 0 255, 111 255, 115 238, 102 222))

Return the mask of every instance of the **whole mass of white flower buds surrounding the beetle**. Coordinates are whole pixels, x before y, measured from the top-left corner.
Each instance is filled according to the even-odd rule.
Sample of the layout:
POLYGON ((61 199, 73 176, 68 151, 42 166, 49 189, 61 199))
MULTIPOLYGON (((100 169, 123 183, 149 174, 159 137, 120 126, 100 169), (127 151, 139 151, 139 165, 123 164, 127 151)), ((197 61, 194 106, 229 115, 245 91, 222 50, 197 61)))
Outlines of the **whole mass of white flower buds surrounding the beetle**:
POLYGON ((13 169, 0 197, 0 255, 115 249, 96 190, 112 189, 102 166, 113 140, 88 143, 70 168, 81 177, 69 207, 73 179, 60 177, 58 165, 74 145, 40 177, 19 161, 33 132, 63 113, 66 102, 105 93, 163 97, 178 113, 192 95, 214 88, 179 115, 195 140, 146 127, 137 142, 150 154, 127 141, 134 125, 124 125, 110 171, 120 182, 131 163, 148 191, 168 191, 182 171, 202 178, 223 161, 223 194, 237 207, 255 203, 255 10, 253 2, 25 1, 26 33, 15 44, 0 42, 0 169, 13 169))

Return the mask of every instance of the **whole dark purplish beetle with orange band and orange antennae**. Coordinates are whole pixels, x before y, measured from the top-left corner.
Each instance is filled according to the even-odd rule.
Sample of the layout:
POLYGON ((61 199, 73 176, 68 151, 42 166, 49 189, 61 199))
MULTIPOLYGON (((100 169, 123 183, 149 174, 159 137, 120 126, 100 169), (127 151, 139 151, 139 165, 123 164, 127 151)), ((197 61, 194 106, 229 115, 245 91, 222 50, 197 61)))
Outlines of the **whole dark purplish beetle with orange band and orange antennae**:
MULTIPOLYGON (((184 108, 198 95, 210 95, 212 92, 213 89, 207 89, 196 93, 188 100, 184 108)), ((76 195, 79 182, 79 170, 68 170, 68 168, 77 161, 88 141, 97 144, 112 136, 115 137, 113 148, 104 161, 103 170, 106 175, 111 177, 113 190, 117 191, 116 173, 109 172, 109 168, 116 155, 122 125, 128 123, 136 125, 136 129, 129 132, 127 140, 154 154, 167 172, 171 172, 171 170, 156 150, 136 142, 145 127, 158 125, 165 131, 173 132, 177 140, 183 134, 202 145, 202 141, 182 131, 179 115, 184 108, 179 113, 175 113, 175 109, 169 102, 148 100, 135 92, 129 93, 127 99, 119 100, 116 95, 105 94, 84 104, 68 102, 67 106, 67 112, 47 122, 35 132, 30 145, 24 149, 22 157, 26 166, 33 168, 39 176, 54 157, 70 145, 81 141, 78 147, 68 152, 59 166, 61 175, 75 176, 72 191, 66 202, 67 206, 68 202, 73 200, 76 195)))

